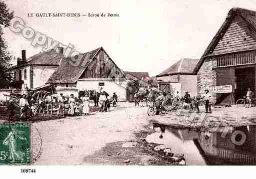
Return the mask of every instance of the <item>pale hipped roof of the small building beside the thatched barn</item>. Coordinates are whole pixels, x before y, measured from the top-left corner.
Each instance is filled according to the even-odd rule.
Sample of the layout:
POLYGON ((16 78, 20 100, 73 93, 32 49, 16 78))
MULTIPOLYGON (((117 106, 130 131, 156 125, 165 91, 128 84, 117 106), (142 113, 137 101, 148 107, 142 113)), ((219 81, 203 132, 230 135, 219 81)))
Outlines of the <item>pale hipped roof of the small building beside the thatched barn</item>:
POLYGON ((198 62, 199 59, 183 58, 157 76, 174 74, 192 74, 198 62))

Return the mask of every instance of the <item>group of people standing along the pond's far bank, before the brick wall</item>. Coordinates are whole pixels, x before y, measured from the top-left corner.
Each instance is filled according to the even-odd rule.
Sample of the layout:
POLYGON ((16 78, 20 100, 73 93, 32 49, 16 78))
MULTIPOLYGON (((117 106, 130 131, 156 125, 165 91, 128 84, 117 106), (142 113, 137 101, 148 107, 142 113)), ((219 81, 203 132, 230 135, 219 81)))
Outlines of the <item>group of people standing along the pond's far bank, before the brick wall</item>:
MULTIPOLYGON (((192 104, 192 98, 189 94, 188 91, 185 92, 184 95, 184 103, 183 103, 183 107, 184 108, 189 108, 193 111, 193 108, 196 109, 196 112, 199 113, 199 105, 200 105, 200 97, 196 97, 193 99, 193 104, 192 104)), ((205 90, 205 95, 203 96, 204 102, 205 102, 205 113, 212 113, 212 108, 211 108, 211 94, 209 93, 209 90, 206 89, 205 90)), ((167 94, 165 92, 162 92, 156 99, 156 115, 158 115, 160 113, 160 106, 164 106, 165 103, 167 102, 167 94)), ((181 96, 179 91, 176 91, 176 93, 173 94, 172 97, 172 106, 177 106, 179 104, 181 100, 181 96)))

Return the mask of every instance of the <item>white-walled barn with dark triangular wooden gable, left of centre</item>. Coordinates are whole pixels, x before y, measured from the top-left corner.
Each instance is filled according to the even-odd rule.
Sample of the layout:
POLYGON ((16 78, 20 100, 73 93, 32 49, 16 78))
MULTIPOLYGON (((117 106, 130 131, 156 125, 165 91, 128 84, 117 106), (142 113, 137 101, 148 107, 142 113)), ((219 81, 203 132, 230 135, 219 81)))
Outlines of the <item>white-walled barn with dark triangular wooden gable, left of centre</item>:
POLYGON ((124 72, 118 68, 103 47, 86 52, 81 64, 72 64, 71 57, 63 58, 46 84, 55 84, 56 92, 78 96, 82 90, 115 92, 120 101, 126 101, 127 81, 124 72))

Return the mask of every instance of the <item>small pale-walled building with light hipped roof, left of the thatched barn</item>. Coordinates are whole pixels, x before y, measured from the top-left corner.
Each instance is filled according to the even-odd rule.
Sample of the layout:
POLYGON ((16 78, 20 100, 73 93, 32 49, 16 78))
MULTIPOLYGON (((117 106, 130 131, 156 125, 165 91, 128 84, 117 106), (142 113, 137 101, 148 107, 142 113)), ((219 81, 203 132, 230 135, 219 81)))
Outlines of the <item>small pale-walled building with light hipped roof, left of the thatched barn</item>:
POLYGON ((160 89, 166 91, 167 84, 182 96, 188 91, 191 96, 197 96, 197 75, 193 73, 199 59, 183 58, 157 75, 160 89))

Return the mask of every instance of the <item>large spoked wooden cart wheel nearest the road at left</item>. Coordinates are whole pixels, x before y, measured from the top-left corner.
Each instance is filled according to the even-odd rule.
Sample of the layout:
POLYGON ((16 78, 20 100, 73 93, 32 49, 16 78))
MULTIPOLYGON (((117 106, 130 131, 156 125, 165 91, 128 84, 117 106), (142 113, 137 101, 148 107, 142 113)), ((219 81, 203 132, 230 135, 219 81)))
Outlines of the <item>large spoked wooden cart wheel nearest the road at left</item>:
POLYGON ((44 112, 44 100, 46 99, 47 95, 48 92, 46 91, 37 91, 32 95, 31 101, 35 104, 35 113, 44 112))

